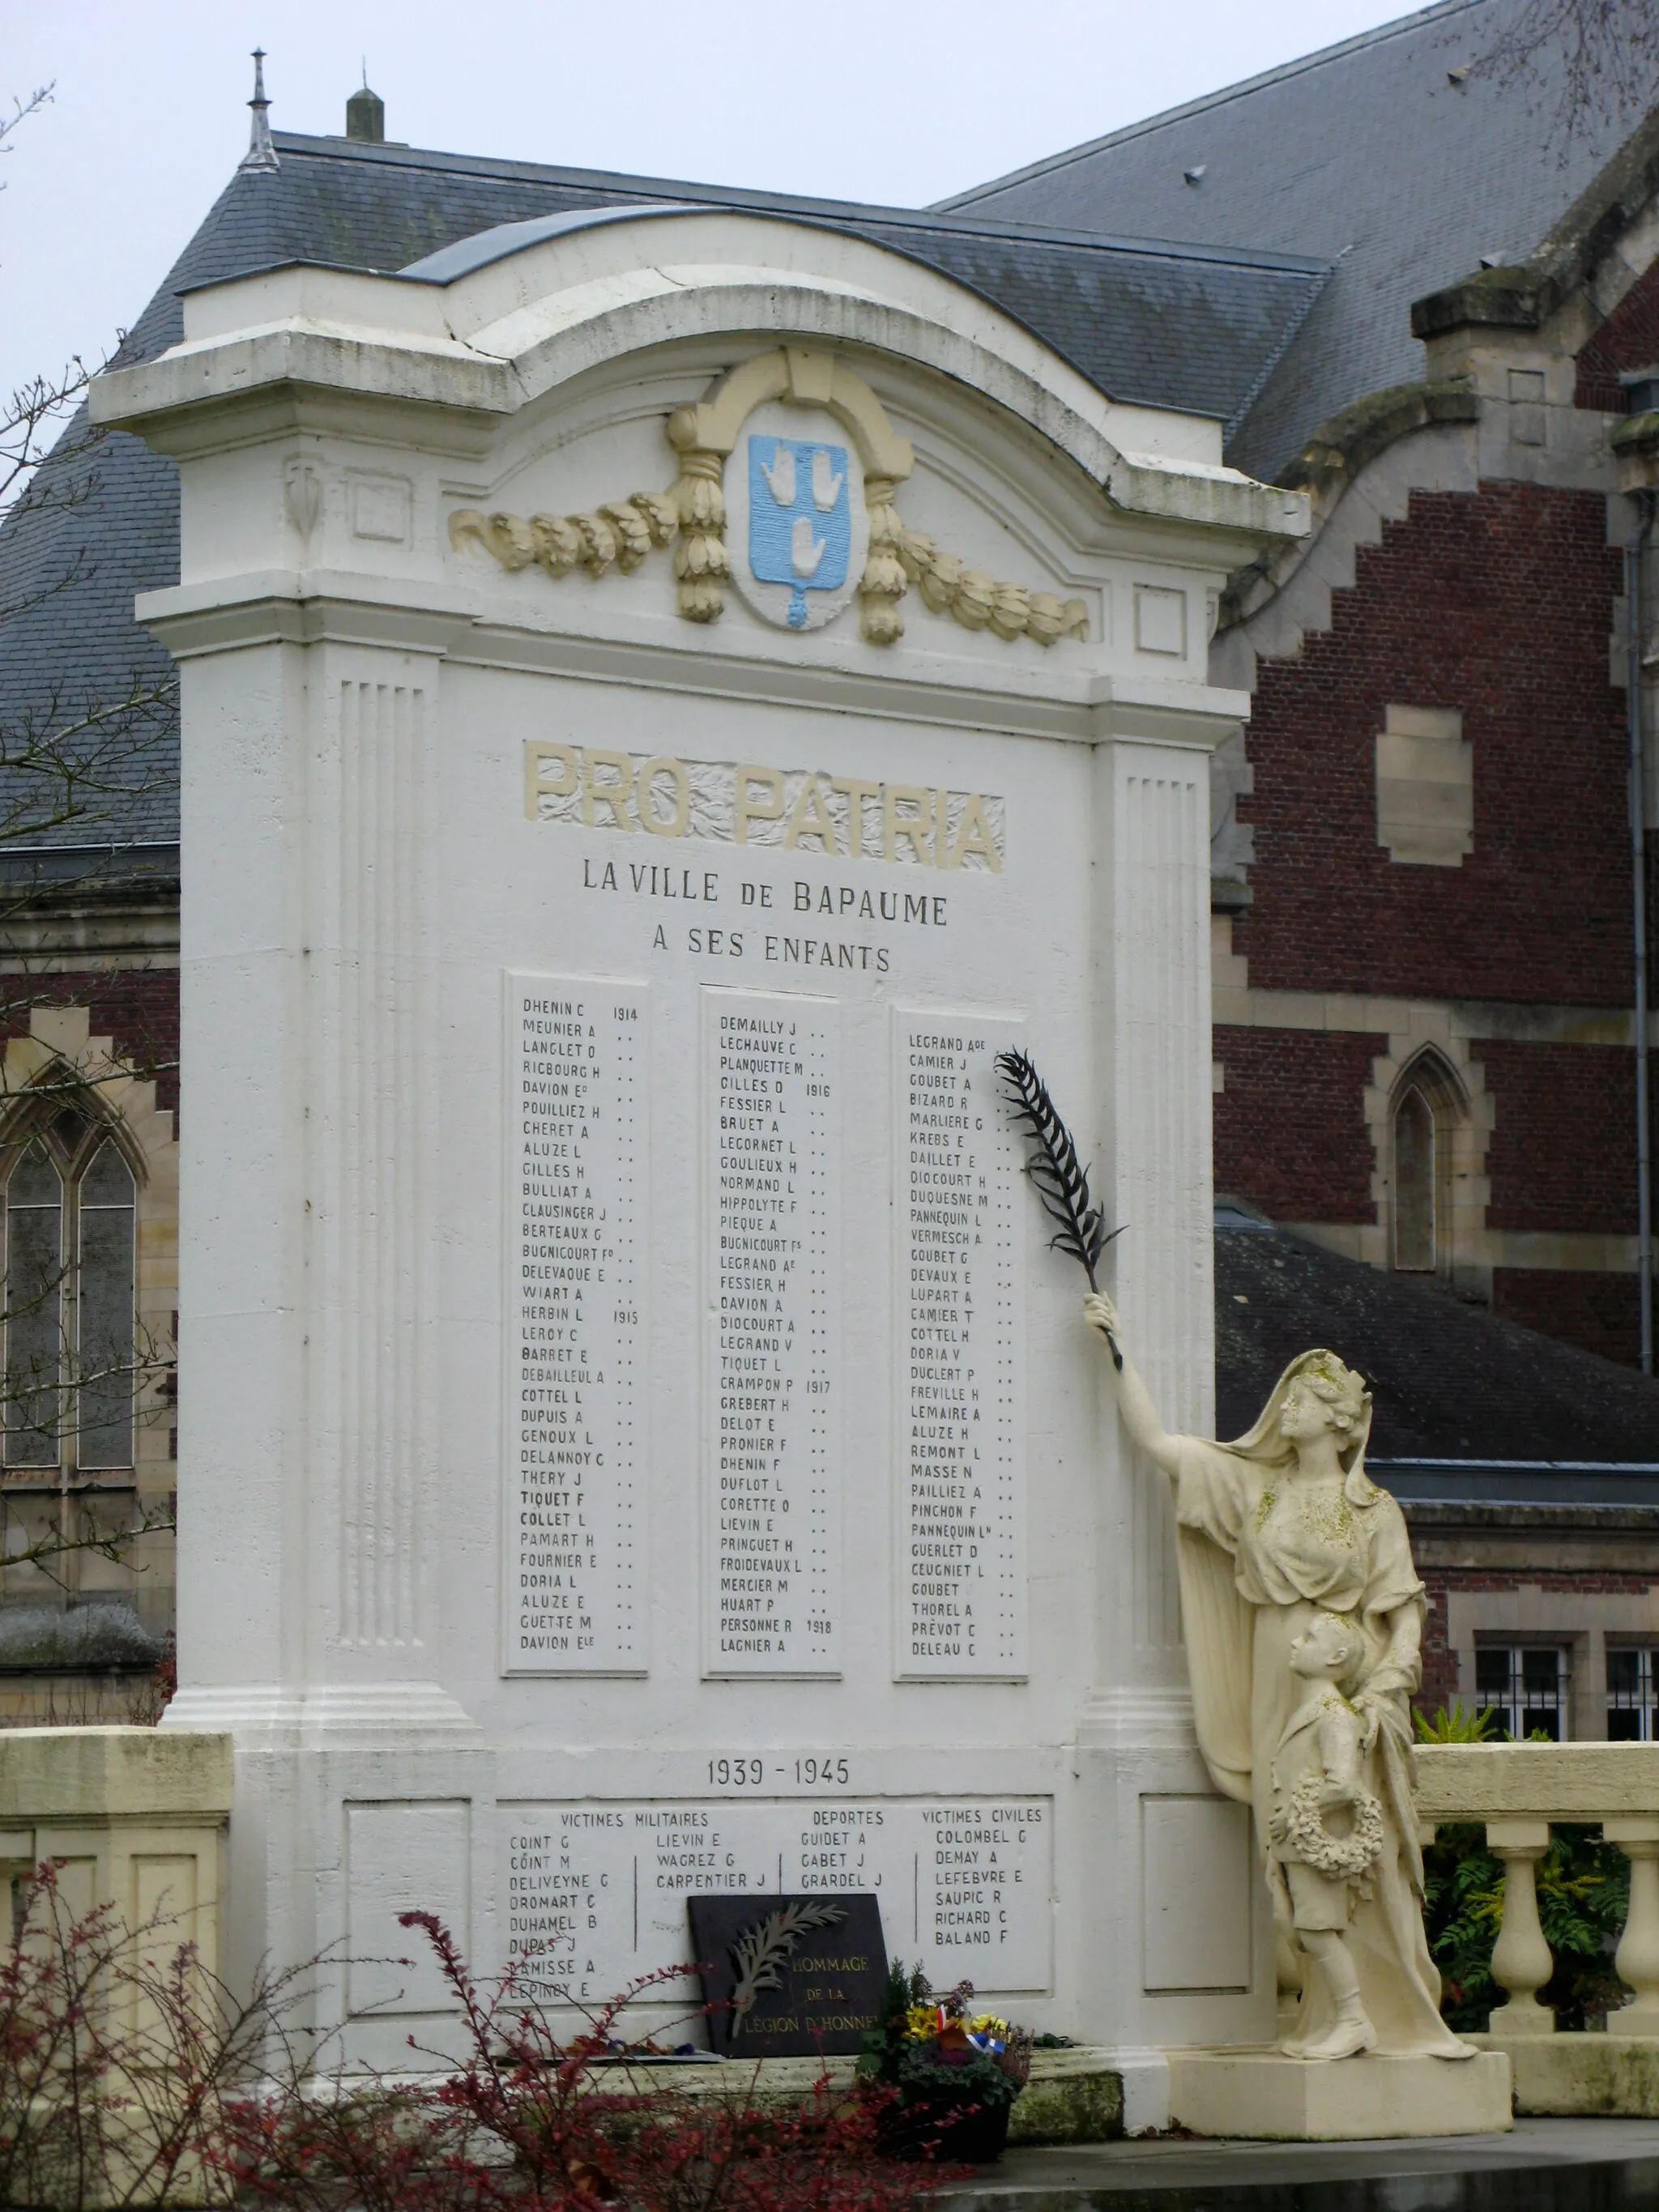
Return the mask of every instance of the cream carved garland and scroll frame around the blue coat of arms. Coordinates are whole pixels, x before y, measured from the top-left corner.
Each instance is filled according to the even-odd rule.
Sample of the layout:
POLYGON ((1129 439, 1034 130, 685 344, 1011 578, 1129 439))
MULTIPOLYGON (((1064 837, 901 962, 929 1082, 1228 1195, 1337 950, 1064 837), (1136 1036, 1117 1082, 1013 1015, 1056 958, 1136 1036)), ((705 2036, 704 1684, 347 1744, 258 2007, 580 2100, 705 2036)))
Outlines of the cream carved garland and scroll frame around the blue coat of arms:
MULTIPOLYGON (((781 354, 787 376, 812 369, 814 356, 781 354)), ((770 356, 759 356, 717 385, 726 392, 737 376, 768 374, 770 356)), ((838 374, 834 363, 816 356, 816 376, 838 374)), ((856 383, 856 380, 854 380, 856 383)), ((858 387, 880 416, 880 400, 858 387)), ((816 398, 818 394, 814 394, 816 398)), ((739 405, 743 405, 739 400, 739 405)), ((641 562, 675 549, 675 599, 686 622, 719 622, 726 613, 726 586, 732 577, 732 555, 726 544, 726 460, 737 440, 737 420, 710 427, 717 407, 677 407, 668 416, 668 442, 679 453, 679 476, 668 491, 635 491, 626 500, 595 509, 591 515, 509 515, 462 507, 449 518, 449 544, 460 551, 469 540, 480 544, 502 568, 544 568, 551 577, 586 568, 604 575, 619 568, 630 575, 641 562), (717 442, 710 442, 717 440, 717 442)), ((885 416, 880 418, 885 425, 885 416)), ((1060 599, 1051 591, 1029 591, 1004 584, 984 568, 969 568, 956 553, 940 553, 922 531, 905 529, 898 507, 898 473, 909 469, 909 445, 887 431, 887 469, 865 469, 865 509, 869 513, 869 551, 858 577, 858 630, 872 646, 894 646, 905 635, 900 602, 911 584, 936 615, 951 615, 964 630, 991 630, 993 637, 1031 637, 1053 646, 1062 637, 1088 635, 1088 608, 1082 599, 1060 599)), ((880 447, 869 449, 883 458, 880 447)))

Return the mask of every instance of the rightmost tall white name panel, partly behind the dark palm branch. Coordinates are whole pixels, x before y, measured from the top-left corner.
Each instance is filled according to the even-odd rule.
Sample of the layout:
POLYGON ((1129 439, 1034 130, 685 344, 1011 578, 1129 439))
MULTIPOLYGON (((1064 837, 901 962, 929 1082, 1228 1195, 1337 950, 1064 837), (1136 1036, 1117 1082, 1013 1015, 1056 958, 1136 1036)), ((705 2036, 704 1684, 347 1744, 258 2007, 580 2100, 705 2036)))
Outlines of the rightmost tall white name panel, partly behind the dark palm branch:
POLYGON ((1022 1024, 894 1009, 894 1672, 1026 1672, 1024 1208, 995 1055, 1022 1024))

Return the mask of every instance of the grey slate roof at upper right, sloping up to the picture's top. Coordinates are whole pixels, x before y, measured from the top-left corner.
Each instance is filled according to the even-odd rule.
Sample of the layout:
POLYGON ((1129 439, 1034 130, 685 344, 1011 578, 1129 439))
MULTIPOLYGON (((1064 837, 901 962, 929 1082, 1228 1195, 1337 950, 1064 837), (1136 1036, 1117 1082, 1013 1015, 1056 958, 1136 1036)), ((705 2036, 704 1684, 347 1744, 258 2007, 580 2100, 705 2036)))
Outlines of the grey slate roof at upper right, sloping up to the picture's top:
POLYGON ((940 206, 1334 263, 1228 447, 1237 467, 1274 478, 1338 409, 1418 383, 1411 303, 1482 257, 1524 261, 1628 137, 1628 124, 1593 122, 1546 146, 1548 66, 1531 88, 1449 82, 1528 4, 1444 0, 940 206))

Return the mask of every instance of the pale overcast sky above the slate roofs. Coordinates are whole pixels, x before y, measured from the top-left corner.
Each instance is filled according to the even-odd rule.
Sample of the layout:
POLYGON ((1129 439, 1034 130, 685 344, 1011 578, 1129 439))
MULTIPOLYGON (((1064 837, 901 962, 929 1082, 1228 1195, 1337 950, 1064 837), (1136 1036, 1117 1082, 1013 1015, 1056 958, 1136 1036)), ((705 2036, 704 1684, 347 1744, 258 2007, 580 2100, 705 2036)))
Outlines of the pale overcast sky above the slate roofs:
POLYGON ((0 0, 0 387, 137 321, 248 144, 343 131, 925 206, 1402 13, 1378 0, 0 0))

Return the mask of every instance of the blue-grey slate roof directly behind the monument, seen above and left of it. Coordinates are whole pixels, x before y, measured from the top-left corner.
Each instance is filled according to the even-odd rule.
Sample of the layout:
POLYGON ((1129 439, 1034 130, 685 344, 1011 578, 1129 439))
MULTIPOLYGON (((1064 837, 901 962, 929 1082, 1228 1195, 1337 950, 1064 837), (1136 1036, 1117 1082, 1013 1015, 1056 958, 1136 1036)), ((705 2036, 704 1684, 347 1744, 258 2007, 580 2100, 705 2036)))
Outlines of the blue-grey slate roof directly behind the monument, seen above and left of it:
MULTIPOLYGON (((179 341, 179 294, 195 285, 288 261, 392 272, 498 223, 668 201, 790 215, 874 239, 998 301, 1115 398, 1230 420, 1327 276, 1307 254, 1168 246, 1097 228, 1073 234, 998 215, 865 208, 288 133, 276 133, 276 150, 281 168, 232 175, 133 325, 124 363, 179 341)), ((69 708, 122 692, 135 672, 166 675, 166 655, 133 622, 133 597, 177 582, 177 471, 122 434, 73 467, 91 473, 82 502, 0 524, 0 714, 9 723, 58 695, 69 708), (73 588, 4 619, 31 580, 60 575, 77 549, 86 553, 73 588)), ((66 469, 58 465, 60 476, 66 469)), ((51 473, 49 462, 46 480, 51 473)), ((142 783, 126 801, 106 799, 91 818, 46 836, 82 847, 177 838, 170 737, 150 754, 142 783)), ((55 863, 0 852, 0 872, 18 867, 51 872, 55 863)))

